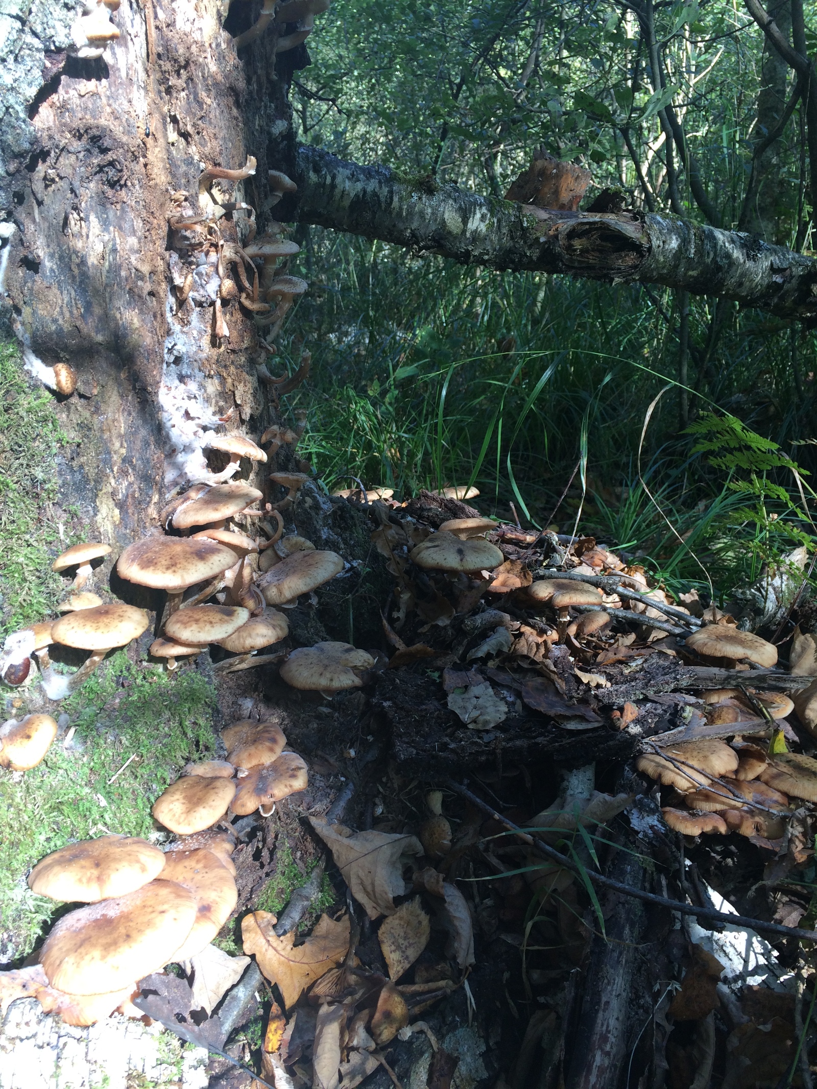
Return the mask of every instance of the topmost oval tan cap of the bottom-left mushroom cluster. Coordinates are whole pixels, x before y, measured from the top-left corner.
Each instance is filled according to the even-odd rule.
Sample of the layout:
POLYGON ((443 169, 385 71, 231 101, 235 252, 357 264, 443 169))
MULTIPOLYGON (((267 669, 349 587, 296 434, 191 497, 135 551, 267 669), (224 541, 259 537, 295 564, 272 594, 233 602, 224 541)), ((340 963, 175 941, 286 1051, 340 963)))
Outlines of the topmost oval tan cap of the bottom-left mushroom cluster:
POLYGON ((163 867, 164 855, 147 840, 101 835, 46 855, 28 874, 28 888, 38 896, 93 904, 135 892, 163 867))

